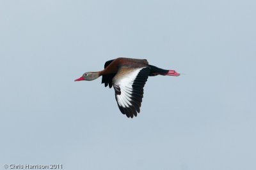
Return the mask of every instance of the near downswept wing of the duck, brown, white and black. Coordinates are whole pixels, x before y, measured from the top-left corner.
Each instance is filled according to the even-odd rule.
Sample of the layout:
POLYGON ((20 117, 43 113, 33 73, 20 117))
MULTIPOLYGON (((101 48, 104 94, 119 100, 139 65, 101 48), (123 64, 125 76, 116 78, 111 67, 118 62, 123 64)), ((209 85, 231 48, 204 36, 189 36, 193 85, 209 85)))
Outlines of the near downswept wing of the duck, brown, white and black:
POLYGON ((143 87, 149 73, 149 67, 122 67, 113 78, 118 108, 127 117, 136 117, 137 112, 140 113, 143 87))

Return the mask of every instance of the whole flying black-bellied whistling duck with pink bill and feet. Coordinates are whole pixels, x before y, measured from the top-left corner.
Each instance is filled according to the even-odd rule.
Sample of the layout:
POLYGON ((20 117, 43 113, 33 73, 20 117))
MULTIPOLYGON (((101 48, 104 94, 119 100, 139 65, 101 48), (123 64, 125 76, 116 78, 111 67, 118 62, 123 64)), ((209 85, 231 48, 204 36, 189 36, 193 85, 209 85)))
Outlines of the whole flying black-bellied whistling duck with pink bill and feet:
POLYGON ((143 87, 148 76, 179 76, 174 70, 160 69, 148 64, 147 60, 118 58, 109 60, 104 65, 104 70, 99 72, 84 73, 81 80, 95 80, 102 76, 105 87, 109 85, 115 89, 116 102, 120 111, 127 117, 137 116, 140 113, 143 98, 143 87))

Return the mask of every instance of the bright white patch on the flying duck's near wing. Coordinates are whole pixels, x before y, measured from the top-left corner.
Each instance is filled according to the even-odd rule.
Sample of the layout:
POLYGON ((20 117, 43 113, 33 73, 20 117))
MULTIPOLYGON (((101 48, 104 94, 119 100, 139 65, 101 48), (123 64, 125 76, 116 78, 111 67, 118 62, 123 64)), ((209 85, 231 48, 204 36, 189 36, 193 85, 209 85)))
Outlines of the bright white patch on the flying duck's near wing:
POLYGON ((129 108, 132 106, 132 84, 143 68, 145 67, 133 69, 131 72, 124 74, 122 78, 115 82, 115 84, 119 86, 121 92, 120 95, 116 95, 116 100, 119 106, 122 106, 123 108, 129 108))

